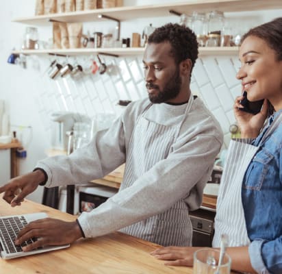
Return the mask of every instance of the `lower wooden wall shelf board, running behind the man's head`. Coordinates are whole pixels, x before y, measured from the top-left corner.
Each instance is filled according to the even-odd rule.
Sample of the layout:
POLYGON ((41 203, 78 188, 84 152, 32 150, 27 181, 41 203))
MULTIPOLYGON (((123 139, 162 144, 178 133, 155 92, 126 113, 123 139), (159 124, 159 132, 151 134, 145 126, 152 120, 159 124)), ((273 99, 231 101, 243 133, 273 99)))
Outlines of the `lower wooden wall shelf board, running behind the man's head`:
MULTIPOLYGON (((46 54, 60 54, 60 55, 96 55, 98 53, 114 54, 118 56, 127 55, 142 55, 144 48, 131 47, 131 48, 109 48, 109 49, 28 49, 23 51, 13 51, 15 54, 26 55, 46 55, 46 54)), ((237 55, 238 47, 200 47, 199 55, 237 55)))

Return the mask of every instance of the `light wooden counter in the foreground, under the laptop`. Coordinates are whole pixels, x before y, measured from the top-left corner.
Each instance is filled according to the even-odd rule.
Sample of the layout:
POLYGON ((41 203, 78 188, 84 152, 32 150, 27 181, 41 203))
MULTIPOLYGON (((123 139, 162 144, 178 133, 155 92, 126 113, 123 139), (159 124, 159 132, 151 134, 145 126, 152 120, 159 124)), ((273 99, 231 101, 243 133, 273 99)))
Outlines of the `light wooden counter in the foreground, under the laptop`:
MULTIPOLYGON (((25 200, 22 206, 11 208, 0 198, 0 215, 46 212, 64 221, 76 216, 25 200)), ((0 273, 9 274, 192 274, 192 268, 164 266, 164 261, 149 253, 158 245, 138 238, 113 233, 97 238, 77 240, 71 247, 59 251, 12 260, 0 258, 0 273)))

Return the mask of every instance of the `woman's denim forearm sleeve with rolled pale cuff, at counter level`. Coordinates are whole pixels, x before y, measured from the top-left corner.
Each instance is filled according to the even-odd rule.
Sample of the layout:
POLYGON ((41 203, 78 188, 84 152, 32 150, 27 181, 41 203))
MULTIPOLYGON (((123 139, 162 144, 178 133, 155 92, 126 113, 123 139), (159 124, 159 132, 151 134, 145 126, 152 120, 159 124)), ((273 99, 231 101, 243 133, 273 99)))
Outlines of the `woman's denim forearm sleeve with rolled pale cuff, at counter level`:
POLYGON ((253 269, 259 274, 282 273, 282 237, 275 240, 253 240, 248 247, 253 269))

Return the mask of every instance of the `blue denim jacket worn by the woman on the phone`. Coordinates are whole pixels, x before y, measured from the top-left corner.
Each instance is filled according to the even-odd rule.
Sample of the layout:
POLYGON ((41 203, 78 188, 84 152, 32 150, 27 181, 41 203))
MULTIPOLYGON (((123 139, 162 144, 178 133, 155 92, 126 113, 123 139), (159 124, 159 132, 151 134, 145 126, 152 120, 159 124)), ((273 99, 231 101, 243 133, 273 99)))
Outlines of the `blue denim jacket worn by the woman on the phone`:
MULTIPOLYGON (((273 119, 279 112, 274 114, 273 119)), ((270 124, 271 121, 268 121, 270 124)), ((282 123, 260 142, 242 184, 242 203, 251 245, 251 264, 257 273, 282 273, 282 123)))

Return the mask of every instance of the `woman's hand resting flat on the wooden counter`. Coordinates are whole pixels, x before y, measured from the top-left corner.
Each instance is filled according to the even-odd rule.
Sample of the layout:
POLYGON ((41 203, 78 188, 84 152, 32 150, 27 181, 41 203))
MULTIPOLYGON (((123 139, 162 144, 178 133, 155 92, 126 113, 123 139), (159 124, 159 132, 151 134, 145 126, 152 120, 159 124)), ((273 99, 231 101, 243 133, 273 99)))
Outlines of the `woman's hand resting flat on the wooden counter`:
POLYGON ((168 260, 170 266, 192 266, 194 252, 201 247, 161 247, 151 252, 158 260, 168 260))

